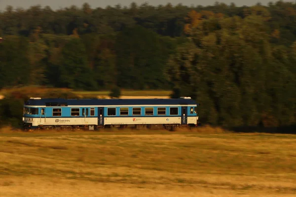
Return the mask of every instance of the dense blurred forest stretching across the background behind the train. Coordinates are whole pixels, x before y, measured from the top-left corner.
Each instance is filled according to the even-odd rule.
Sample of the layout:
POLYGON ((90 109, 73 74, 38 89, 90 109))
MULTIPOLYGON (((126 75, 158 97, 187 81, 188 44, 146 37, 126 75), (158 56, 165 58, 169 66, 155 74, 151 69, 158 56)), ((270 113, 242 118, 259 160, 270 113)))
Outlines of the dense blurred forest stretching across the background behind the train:
POLYGON ((296 123, 294 2, 8 6, 0 37, 0 89, 171 89, 201 103, 204 123, 296 123))

